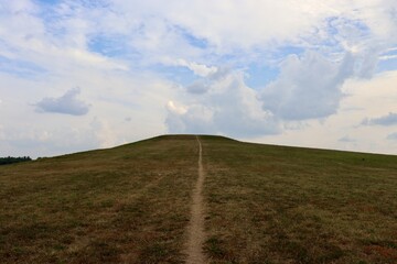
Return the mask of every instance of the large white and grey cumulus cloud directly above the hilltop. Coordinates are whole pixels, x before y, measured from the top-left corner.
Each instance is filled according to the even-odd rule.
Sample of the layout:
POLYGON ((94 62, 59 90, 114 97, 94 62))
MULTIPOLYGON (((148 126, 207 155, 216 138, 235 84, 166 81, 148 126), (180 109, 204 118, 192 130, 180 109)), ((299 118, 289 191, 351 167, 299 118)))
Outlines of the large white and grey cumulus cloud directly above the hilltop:
POLYGON ((257 92, 245 85, 242 73, 229 73, 224 78, 208 77, 203 81, 206 92, 193 96, 192 103, 168 103, 165 122, 170 132, 232 136, 280 132, 279 122, 269 111, 261 109, 257 92))

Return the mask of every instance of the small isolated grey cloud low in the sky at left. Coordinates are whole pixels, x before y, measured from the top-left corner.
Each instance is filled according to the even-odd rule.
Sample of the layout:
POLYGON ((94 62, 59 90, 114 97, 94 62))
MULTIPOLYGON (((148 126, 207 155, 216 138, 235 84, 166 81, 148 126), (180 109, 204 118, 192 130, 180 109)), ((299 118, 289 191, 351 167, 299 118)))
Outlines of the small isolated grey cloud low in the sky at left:
POLYGON ((79 88, 73 88, 58 98, 46 97, 35 105, 37 112, 54 112, 71 116, 84 116, 88 113, 89 105, 79 100, 79 88))

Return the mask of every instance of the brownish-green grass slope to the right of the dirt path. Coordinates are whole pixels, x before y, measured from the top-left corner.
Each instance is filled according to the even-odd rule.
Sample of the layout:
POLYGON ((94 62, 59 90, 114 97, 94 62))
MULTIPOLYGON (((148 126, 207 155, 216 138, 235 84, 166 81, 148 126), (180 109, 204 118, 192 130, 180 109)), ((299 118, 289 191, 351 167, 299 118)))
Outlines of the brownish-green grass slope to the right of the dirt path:
POLYGON ((397 263, 397 156, 202 142, 213 263, 397 263))

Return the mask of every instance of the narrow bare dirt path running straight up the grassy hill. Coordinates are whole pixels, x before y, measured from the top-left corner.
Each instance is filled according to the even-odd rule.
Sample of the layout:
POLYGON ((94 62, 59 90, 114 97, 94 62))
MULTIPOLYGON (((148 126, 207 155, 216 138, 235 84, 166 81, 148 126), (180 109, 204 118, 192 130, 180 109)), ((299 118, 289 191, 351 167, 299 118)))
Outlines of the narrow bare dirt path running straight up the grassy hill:
POLYGON ((198 178, 193 189, 193 201, 191 208, 191 219, 187 227, 187 243, 186 243, 186 263, 206 263, 205 255, 203 253, 204 243, 204 205, 203 205, 203 184, 205 174, 202 163, 202 144, 196 135, 198 143, 198 178))

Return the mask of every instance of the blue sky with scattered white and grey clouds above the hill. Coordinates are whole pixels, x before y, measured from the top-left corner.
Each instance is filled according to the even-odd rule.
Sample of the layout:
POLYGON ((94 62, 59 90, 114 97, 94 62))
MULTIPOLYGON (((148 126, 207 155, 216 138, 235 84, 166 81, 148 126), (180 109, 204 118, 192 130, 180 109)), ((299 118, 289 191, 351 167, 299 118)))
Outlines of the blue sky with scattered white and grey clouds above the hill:
POLYGON ((0 0, 0 156, 168 133, 397 154, 397 1, 0 0))

